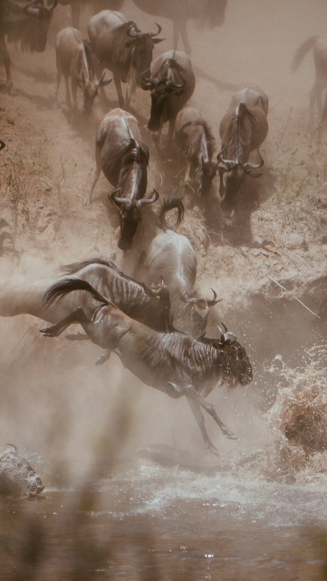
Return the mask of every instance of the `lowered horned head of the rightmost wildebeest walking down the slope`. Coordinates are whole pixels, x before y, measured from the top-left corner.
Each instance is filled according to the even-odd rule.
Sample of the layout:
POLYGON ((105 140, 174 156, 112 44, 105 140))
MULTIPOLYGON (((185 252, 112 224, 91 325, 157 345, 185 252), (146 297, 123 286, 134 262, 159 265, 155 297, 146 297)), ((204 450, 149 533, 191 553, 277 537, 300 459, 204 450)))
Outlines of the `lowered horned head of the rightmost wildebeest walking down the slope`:
MULTIPOLYGON (((223 150, 222 150, 223 151, 223 150)), ((256 173, 253 170, 257 170, 263 167, 264 160, 260 155, 260 163, 241 163, 238 160, 224 159, 221 157, 222 152, 218 153, 218 162, 224 163, 224 166, 218 165, 218 171, 220 174, 220 197, 225 194, 224 199, 221 202, 222 210, 232 210, 235 205, 236 195, 245 181, 246 175, 250 175, 252 178, 260 177, 260 173, 256 173), (224 186, 224 173, 227 172, 226 185, 224 186)))

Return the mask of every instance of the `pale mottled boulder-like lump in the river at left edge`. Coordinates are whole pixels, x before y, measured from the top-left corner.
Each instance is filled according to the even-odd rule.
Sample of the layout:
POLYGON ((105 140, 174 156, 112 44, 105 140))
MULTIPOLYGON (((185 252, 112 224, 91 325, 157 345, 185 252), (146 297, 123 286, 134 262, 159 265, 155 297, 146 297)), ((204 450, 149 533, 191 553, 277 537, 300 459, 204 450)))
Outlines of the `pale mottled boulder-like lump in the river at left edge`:
POLYGON ((44 490, 41 478, 28 464, 26 458, 19 456, 15 444, 7 444, 13 451, 5 452, 0 458, 0 494, 15 497, 31 497, 44 490))

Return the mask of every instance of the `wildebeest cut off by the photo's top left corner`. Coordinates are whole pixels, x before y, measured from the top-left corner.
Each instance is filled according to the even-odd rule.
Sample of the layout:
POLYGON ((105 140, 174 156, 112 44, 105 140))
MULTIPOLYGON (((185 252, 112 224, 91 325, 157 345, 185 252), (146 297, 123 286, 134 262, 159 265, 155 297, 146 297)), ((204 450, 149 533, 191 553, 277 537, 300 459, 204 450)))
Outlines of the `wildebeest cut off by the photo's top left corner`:
POLYGON ((15 0, 0 0, 0 53, 5 62, 9 91, 13 83, 5 35, 8 42, 20 41, 23 52, 44 52, 49 24, 57 2, 55 0, 49 8, 45 8, 43 1, 40 4, 39 0, 32 0, 25 5, 15 0))

